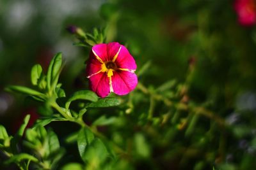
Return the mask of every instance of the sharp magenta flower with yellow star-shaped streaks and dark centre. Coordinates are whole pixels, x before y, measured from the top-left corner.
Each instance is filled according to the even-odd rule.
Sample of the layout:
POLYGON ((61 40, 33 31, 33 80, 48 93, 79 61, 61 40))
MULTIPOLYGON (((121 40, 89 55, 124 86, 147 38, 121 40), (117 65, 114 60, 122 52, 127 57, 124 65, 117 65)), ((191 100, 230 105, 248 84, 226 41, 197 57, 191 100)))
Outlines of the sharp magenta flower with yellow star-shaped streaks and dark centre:
POLYGON ((128 94, 138 83, 134 73, 136 67, 135 60, 124 45, 115 42, 95 45, 86 67, 90 89, 100 97, 106 97, 110 92, 128 94))

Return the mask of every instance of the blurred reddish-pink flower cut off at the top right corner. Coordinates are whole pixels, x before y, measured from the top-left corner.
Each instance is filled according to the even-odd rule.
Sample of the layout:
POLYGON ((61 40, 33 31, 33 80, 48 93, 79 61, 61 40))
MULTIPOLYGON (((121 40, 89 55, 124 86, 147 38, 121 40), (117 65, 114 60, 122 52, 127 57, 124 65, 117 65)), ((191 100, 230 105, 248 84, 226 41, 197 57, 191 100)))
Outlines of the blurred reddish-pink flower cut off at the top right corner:
POLYGON ((256 8, 254 0, 236 0, 234 8, 241 25, 251 26, 256 22, 256 8))

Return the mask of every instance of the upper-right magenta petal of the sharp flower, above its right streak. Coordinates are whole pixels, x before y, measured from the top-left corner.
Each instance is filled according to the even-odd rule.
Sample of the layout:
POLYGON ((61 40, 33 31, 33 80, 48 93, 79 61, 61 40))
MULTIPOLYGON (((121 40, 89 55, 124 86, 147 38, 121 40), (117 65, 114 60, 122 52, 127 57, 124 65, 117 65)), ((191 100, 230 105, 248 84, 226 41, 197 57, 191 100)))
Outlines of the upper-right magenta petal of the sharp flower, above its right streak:
POLYGON ((135 70, 137 68, 135 60, 133 59, 132 55, 129 53, 127 48, 125 48, 124 45, 121 46, 122 47, 119 52, 119 55, 116 58, 117 67, 135 70))

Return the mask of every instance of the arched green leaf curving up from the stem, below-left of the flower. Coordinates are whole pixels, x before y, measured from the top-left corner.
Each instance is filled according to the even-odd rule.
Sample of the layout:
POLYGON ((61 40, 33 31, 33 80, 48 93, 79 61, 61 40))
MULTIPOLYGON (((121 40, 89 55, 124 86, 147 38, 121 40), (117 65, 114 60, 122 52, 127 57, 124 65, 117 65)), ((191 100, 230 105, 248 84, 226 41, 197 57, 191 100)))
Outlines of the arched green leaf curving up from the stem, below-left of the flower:
POLYGON ((83 100, 96 102, 98 98, 99 97, 90 90, 77 91, 68 99, 67 103, 65 104, 65 108, 68 109, 72 101, 83 99, 83 100))

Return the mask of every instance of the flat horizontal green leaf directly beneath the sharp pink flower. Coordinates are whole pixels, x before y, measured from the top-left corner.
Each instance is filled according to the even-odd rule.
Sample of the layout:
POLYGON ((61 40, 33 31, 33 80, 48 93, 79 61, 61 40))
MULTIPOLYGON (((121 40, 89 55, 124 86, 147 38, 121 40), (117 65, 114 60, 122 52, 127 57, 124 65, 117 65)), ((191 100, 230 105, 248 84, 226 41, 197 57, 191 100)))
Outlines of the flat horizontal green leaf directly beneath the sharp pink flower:
POLYGON ((118 106, 120 103, 120 99, 117 99, 116 97, 106 97, 99 99, 95 103, 88 104, 86 108, 107 108, 112 106, 118 106))

